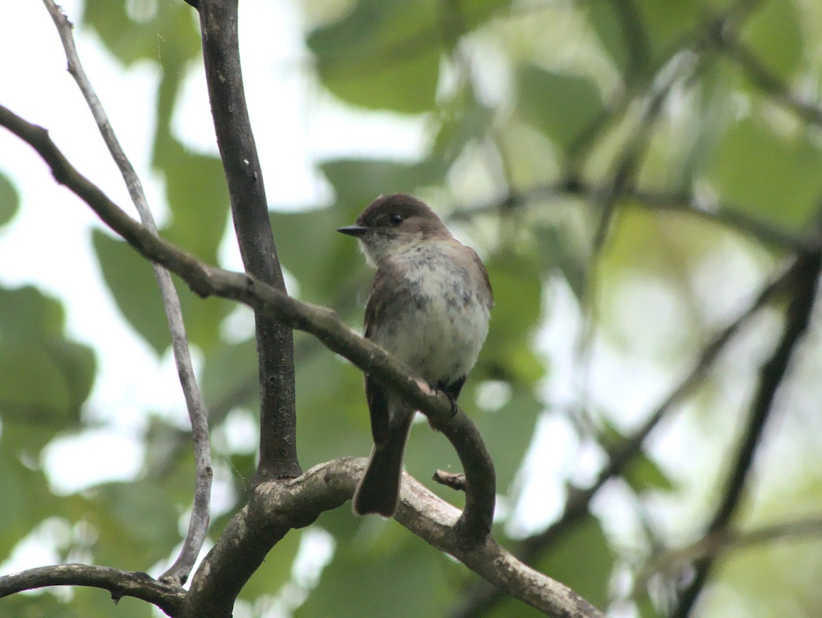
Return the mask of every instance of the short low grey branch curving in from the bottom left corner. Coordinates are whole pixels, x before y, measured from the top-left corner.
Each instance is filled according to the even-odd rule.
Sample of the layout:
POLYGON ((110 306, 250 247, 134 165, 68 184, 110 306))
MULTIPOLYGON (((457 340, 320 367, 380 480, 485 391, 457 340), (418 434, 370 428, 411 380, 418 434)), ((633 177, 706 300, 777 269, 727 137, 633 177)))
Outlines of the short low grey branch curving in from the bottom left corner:
POLYGON ((0 577, 0 597, 47 586, 88 586, 103 588, 116 603, 122 597, 135 597, 158 606, 169 616, 182 608, 186 591, 162 583, 139 571, 122 571, 109 566, 53 565, 40 566, 0 577))

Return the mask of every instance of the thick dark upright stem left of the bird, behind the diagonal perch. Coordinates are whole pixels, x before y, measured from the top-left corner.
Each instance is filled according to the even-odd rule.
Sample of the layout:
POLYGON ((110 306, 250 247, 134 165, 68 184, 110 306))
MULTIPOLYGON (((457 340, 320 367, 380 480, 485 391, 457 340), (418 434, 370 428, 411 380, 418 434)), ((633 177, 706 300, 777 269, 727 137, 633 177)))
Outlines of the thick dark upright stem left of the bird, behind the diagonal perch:
MULTIPOLYGON (((231 196, 242 265, 255 279, 285 293, 271 233, 260 160, 242 86, 238 0, 201 0, 200 28, 211 115, 231 196)), ((260 462, 256 482, 302 473, 297 459, 294 343, 291 329, 255 314, 260 369, 260 462)))

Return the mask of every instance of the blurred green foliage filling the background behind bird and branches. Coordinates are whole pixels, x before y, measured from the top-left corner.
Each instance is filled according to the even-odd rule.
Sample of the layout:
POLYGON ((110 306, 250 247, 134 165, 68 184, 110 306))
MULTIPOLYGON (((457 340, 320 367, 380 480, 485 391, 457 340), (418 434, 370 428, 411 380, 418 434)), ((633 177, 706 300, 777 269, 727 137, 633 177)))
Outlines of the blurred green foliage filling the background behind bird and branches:
MULTIPOLYGON (((298 5, 316 84, 349 106, 423 118, 427 150, 414 161, 363 159, 352 144, 351 154, 323 161, 333 207, 271 213, 281 261, 302 299, 333 307, 358 327, 370 273, 353 242, 334 229, 374 196, 413 191, 427 198, 478 249, 496 307, 460 403, 496 463, 506 506, 496 534, 516 547, 561 511, 561 492, 552 487, 569 487, 569 496, 585 487, 596 460, 644 421, 710 334, 810 233, 822 196, 822 114, 807 112, 819 109, 822 9, 798 0, 298 5), (654 97, 663 99, 658 108, 649 106, 654 97), (614 216, 607 242, 595 250, 603 209, 614 216), (575 440, 534 442, 545 419, 564 423, 575 440), (526 454, 543 462, 547 452, 561 464, 524 467, 526 454)), ((160 233, 216 262, 228 220, 219 159, 187 150, 171 127, 186 69, 200 56, 193 17, 184 2, 86 0, 81 27, 94 30, 124 66, 157 66, 152 164, 171 210, 160 233)), ((18 210, 18 190, 25 187, 0 175, 0 226, 18 210)), ((122 316, 164 353, 169 337, 150 265, 104 233, 92 242, 122 316)), ((254 344, 226 339, 220 326, 229 303, 178 289, 220 436, 230 419, 255 417, 254 344)), ((193 487, 187 436, 153 419, 136 480, 54 495, 41 452, 91 426, 83 404, 97 371, 93 351, 66 333, 62 302, 71 299, 0 289, 0 559, 57 519, 63 533, 52 545, 61 559, 149 570, 182 539, 178 519, 193 487)), ((685 413, 676 411, 674 428, 652 435, 607 495, 538 552, 536 568, 626 616, 665 614, 680 571, 663 570, 650 591, 634 597, 630 581, 650 558, 664 563, 668 548, 700 536, 745 422, 761 356, 750 349, 772 344, 773 325, 751 329, 746 344, 727 352, 685 413)), ((805 354, 797 363, 822 360, 805 354)), ((303 466, 367 454, 360 373, 302 334, 296 357, 303 466)), ((810 397, 814 413, 784 402, 780 435, 766 436, 775 446, 757 464, 793 476, 760 473, 749 490, 756 509, 739 514, 740 528, 822 513, 816 388, 815 380, 792 382, 796 401, 810 397)), ((446 440, 425 423, 413 428, 406 466, 423 480, 434 468, 459 469, 446 440)), ((252 453, 215 439, 215 468, 224 471, 234 505, 215 517, 212 537, 242 503, 253 467, 252 453)), ((459 505, 459 496, 429 485, 459 505)), ((334 539, 329 564, 312 576, 295 568, 303 535, 289 534, 242 592, 257 608, 252 613, 264 615, 261 599, 290 586, 289 598, 294 587, 307 595, 302 605, 291 601, 294 615, 305 618, 446 616, 473 590, 471 574, 394 522, 355 519, 344 508, 316 525, 334 539)), ((733 553, 715 570, 697 613, 819 616, 819 550, 818 540, 774 539, 733 553)), ((480 613, 529 611, 502 599, 480 613)), ((77 589, 68 597, 3 599, 0 613, 150 611, 124 599, 115 612, 105 593, 77 589)))

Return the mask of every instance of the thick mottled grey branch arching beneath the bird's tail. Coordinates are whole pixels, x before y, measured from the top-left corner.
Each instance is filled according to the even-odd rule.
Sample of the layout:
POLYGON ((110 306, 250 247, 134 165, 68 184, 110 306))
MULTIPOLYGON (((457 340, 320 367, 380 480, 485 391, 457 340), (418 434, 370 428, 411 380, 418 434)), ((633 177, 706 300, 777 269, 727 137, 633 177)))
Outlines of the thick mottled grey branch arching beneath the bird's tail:
MULTIPOLYGON (((263 482, 248 505, 233 517, 192 581, 192 595, 182 616, 230 616, 233 598, 259 566, 273 542, 293 528, 312 523, 324 510, 349 500, 365 459, 335 459, 301 477, 263 482)), ((455 533, 459 510, 404 474, 396 518, 433 547, 446 551, 494 586, 556 618, 595 618, 597 608, 556 582, 524 565, 492 537, 475 543, 455 533)))

